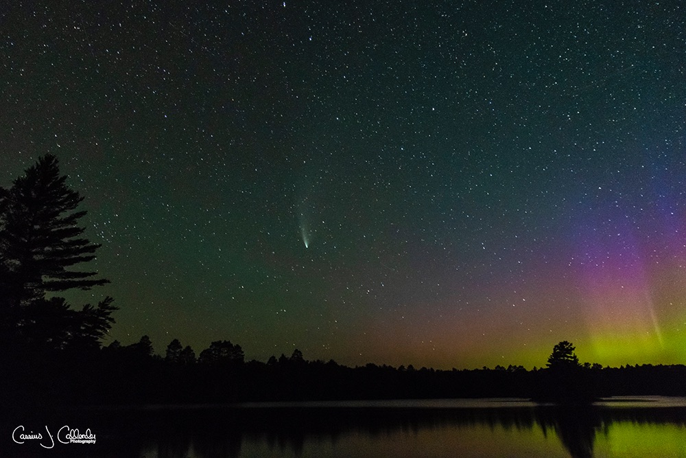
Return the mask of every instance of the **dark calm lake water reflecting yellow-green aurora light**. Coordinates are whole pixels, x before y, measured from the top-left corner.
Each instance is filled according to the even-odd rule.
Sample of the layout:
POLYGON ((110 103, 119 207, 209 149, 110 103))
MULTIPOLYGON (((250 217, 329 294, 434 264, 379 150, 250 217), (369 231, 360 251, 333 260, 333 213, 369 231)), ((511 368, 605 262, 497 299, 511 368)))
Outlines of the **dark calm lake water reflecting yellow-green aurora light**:
MULTIPOLYGON (((96 444, 57 444, 54 450, 101 457, 686 458, 686 398, 612 398, 584 408, 502 399, 402 400, 61 415, 70 428, 91 428, 96 444)), ((32 456, 29 447, 37 446, 13 444, 13 451, 32 456)))

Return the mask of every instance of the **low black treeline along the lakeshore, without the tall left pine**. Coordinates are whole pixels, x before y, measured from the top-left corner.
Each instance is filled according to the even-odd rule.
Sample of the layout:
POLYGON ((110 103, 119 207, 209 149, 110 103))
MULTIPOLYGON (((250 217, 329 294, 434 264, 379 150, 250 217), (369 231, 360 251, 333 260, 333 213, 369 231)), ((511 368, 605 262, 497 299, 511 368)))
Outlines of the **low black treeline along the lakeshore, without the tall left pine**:
MULTIPOLYGON (((606 396, 686 396, 686 366, 619 368, 576 365, 527 370, 438 370, 306 360, 299 350, 267 362, 244 359, 239 345, 211 343, 195 358, 174 339, 165 356, 147 336, 93 352, 13 354, 10 399, 41 404, 222 404, 305 400, 531 398, 592 400, 606 396), (180 350, 179 350, 180 349, 180 350), (38 363, 40 361, 40 363, 38 363)), ((5 355, 6 356, 6 355, 5 355)), ((5 360, 4 366, 10 361, 5 360)))

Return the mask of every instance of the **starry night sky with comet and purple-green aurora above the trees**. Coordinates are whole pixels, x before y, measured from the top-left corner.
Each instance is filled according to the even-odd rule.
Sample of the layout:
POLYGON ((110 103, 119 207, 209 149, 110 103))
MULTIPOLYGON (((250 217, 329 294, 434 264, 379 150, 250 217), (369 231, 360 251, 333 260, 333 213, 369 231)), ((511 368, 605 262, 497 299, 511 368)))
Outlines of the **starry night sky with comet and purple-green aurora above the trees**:
POLYGON ((84 196, 104 342, 686 363, 681 1, 12 1, 0 185, 84 196))

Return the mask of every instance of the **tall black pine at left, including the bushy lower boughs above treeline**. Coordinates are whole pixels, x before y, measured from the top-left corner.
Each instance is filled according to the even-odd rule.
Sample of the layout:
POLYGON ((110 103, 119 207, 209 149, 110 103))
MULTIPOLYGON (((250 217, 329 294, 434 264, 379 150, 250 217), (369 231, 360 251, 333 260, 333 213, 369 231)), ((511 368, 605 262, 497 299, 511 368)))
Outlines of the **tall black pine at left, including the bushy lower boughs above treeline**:
POLYGON ((112 299, 72 310, 47 293, 88 290, 108 283, 96 272, 73 270, 91 261, 99 244, 82 237, 83 198, 66 185, 51 154, 5 190, 0 187, 0 337, 54 348, 99 345, 114 319, 112 299))

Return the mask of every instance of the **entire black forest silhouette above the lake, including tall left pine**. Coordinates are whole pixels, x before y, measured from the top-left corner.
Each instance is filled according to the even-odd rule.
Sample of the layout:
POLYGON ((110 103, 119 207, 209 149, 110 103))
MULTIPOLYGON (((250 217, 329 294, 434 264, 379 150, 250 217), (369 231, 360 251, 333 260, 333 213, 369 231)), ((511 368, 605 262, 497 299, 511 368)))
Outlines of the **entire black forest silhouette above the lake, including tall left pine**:
POLYGON ((545 368, 436 370, 306 360, 300 350, 246 361, 240 345, 215 341, 196 356, 173 339, 165 356, 147 336, 132 345, 102 339, 113 299, 72 308, 58 293, 102 286, 75 270, 99 247, 83 238, 83 198, 47 155, 9 189, 0 187, 0 389, 4 405, 182 404, 276 400, 517 397, 584 404, 620 395, 686 396, 686 366, 619 368, 579 363, 567 341, 545 368))

